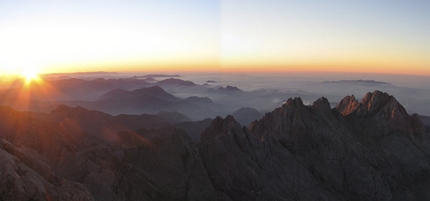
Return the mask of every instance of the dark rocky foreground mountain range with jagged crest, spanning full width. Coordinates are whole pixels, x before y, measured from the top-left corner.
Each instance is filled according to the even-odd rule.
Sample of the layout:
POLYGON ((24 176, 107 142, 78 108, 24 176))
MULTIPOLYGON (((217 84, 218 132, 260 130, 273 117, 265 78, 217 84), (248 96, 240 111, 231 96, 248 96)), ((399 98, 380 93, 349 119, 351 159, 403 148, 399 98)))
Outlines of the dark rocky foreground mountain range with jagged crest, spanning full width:
POLYGON ((198 142, 172 126, 104 139, 80 133, 78 121, 69 130, 5 111, 3 200, 430 199, 429 133, 379 91, 334 109, 325 98, 289 99, 249 128, 218 117, 198 142))

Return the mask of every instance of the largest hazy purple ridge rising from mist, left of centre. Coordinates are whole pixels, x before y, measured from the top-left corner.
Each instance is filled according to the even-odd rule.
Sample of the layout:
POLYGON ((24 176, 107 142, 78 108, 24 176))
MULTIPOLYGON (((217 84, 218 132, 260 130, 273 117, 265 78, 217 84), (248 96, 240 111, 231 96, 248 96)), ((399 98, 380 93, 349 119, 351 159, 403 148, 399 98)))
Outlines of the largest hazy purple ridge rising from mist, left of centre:
POLYGON ((100 96, 97 101, 66 101, 61 103, 71 107, 82 106, 103 111, 111 115, 178 112, 193 120, 205 119, 210 114, 218 114, 220 113, 219 110, 223 108, 222 105, 212 102, 207 97, 177 98, 159 86, 133 91, 114 89, 100 96))

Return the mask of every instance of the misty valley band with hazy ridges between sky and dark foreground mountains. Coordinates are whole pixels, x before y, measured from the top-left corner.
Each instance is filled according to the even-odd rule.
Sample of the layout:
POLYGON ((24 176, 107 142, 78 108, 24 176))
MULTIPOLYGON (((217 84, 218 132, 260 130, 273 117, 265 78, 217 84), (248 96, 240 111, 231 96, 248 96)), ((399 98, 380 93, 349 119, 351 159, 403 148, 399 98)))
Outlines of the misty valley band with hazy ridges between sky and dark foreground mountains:
POLYGON ((176 112, 190 121, 235 114, 246 116, 247 121, 239 121, 247 126, 249 119, 259 119, 289 98, 300 97, 305 105, 311 105, 326 97, 334 108, 347 95, 360 100, 367 92, 379 90, 393 95, 408 113, 430 116, 430 82, 424 76, 99 72, 42 78, 43 82, 26 86, 31 90, 18 81, 4 83, 0 92, 2 104, 34 112, 51 112, 58 105, 81 106, 110 115, 176 112))

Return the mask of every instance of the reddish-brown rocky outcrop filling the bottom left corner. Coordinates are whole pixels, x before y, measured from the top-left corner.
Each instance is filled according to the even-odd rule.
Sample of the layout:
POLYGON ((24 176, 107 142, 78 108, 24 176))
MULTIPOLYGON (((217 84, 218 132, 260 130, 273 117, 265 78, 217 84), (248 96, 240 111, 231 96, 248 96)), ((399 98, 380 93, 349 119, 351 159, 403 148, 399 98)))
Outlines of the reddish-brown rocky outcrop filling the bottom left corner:
POLYGON ((32 149, 0 139, 1 200, 93 200, 88 189, 51 173, 49 163, 32 149))

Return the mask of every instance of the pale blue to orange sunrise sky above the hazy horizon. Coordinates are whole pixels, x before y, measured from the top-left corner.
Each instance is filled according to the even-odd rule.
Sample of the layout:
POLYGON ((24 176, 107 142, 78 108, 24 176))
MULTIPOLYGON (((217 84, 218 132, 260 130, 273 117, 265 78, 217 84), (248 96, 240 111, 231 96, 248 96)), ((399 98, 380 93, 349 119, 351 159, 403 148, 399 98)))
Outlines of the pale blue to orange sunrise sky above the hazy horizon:
POLYGON ((430 1, 0 0, 0 75, 430 75, 430 1))

